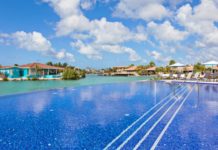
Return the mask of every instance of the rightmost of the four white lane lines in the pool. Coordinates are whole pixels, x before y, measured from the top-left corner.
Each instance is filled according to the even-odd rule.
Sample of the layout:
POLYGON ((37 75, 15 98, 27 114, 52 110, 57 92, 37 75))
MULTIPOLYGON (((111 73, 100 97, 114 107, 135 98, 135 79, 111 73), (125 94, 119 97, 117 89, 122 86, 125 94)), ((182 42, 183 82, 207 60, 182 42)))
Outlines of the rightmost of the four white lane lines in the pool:
POLYGON ((162 139, 163 135, 165 134, 165 132, 169 128, 170 124, 173 122, 173 119, 176 117, 176 115, 178 114, 179 110, 182 108, 183 104, 185 103, 185 101, 187 100, 189 95, 191 94, 192 90, 193 90, 193 88, 191 89, 189 94, 185 97, 185 99, 180 104, 179 108, 176 110, 176 112, 173 114, 173 116, 170 118, 170 120, 167 122, 166 126, 164 127, 164 129, 162 130, 162 132, 159 134, 158 138, 156 139, 156 141, 152 145, 151 150, 154 150, 157 147, 158 143, 160 142, 160 140, 162 139))

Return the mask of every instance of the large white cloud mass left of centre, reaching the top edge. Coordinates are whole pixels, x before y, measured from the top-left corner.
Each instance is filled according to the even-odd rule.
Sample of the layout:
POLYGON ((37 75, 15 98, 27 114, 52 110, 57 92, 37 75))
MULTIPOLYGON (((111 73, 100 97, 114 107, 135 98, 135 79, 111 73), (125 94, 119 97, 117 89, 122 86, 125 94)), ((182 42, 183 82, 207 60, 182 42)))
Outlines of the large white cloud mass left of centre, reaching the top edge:
POLYGON ((84 3, 90 2, 88 0, 43 1, 49 3, 60 16, 60 21, 56 25, 56 34, 58 36, 70 36, 76 41, 72 42, 71 45, 78 49, 79 53, 91 59, 102 59, 102 52, 128 53, 131 61, 140 58, 132 48, 121 46, 121 44, 128 41, 146 41, 145 33, 138 30, 131 31, 121 22, 110 22, 104 17, 94 20, 88 19, 80 10, 80 7, 87 5, 84 3), (108 45, 117 49, 109 48, 108 45))

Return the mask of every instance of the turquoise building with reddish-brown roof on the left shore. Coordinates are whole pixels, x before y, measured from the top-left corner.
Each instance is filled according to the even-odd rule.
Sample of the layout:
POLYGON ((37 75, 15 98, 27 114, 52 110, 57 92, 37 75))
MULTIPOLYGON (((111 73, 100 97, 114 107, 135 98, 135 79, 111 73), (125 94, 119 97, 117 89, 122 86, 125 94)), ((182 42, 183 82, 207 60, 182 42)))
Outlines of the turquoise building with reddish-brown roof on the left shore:
POLYGON ((61 72, 64 68, 49 66, 41 63, 31 63, 21 66, 2 66, 0 74, 9 79, 58 79, 61 78, 61 72))

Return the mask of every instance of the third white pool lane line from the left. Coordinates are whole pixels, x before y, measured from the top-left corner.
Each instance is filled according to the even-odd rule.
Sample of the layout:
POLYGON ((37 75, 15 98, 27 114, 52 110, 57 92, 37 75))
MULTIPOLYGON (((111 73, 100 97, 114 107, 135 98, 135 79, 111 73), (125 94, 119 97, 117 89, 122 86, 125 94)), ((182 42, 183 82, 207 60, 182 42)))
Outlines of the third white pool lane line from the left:
MULTIPOLYGON (((183 99, 182 103, 184 101, 186 101, 187 97, 190 95, 190 93, 192 92, 192 90, 190 90, 190 92, 186 95, 186 97, 183 99)), ((163 117, 169 112, 169 110, 178 102, 179 100, 176 100, 168 109, 167 111, 164 112, 164 114, 155 122, 155 124, 149 129, 149 131, 146 132, 146 134, 141 138, 141 140, 135 145, 135 147, 133 148, 133 150, 137 150, 141 144, 146 140, 146 138, 149 136, 149 134, 151 133, 151 131, 157 126, 157 124, 163 119, 163 117)), ((181 105, 180 104, 180 105, 181 105)), ((179 105, 179 106, 180 106, 179 105)), ((179 107, 178 107, 179 108, 179 107)), ((177 109, 178 109, 177 108, 177 109)))

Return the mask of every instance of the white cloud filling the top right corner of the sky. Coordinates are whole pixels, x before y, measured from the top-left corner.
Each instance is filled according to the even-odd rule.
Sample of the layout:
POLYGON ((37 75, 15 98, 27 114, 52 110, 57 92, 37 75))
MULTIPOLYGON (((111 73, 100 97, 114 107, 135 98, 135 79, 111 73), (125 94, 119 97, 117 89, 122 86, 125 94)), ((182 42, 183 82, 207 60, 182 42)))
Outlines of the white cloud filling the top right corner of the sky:
POLYGON ((177 11, 176 19, 186 30, 199 36, 197 46, 218 46, 218 28, 214 24, 218 21, 218 5, 216 0, 202 0, 195 7, 189 4, 177 11))

